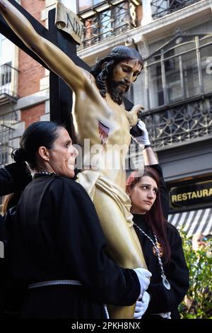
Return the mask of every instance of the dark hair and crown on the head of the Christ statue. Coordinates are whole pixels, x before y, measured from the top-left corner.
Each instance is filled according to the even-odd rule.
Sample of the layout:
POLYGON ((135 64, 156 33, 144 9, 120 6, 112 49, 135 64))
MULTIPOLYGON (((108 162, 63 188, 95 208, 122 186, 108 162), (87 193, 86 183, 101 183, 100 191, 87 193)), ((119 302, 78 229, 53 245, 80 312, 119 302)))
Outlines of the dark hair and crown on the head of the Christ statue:
POLYGON ((122 95, 117 91, 116 83, 112 80, 112 70, 117 63, 125 59, 138 59, 143 66, 143 59, 136 49, 119 45, 113 47, 109 55, 99 60, 90 69, 90 73, 95 77, 101 96, 105 98, 106 93, 109 92, 112 100, 119 105, 122 104, 123 99, 122 95), (102 67, 102 64, 105 65, 102 67))

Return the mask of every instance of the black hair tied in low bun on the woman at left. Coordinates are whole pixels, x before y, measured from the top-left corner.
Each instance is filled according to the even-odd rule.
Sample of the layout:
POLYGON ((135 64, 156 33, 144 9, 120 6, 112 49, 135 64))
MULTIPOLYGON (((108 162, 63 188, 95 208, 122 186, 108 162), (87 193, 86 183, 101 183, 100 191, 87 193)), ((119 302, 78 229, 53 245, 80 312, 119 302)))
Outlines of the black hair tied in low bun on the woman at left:
POLYGON ((37 166, 37 150, 41 146, 51 149, 58 137, 58 131, 63 128, 53 121, 37 121, 31 124, 20 139, 20 147, 13 150, 11 156, 15 162, 28 162, 31 169, 37 166))

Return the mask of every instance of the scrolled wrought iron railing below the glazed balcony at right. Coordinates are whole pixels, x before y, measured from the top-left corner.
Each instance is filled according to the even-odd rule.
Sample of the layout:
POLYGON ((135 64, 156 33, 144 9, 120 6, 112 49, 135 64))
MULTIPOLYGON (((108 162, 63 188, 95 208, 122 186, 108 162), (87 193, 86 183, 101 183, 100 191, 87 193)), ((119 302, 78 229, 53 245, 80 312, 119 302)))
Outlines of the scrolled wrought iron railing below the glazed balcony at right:
POLYGON ((143 114, 155 148, 212 135, 212 95, 143 114))

